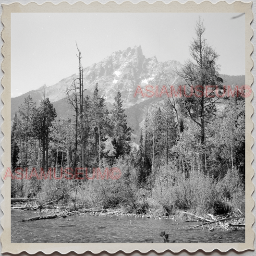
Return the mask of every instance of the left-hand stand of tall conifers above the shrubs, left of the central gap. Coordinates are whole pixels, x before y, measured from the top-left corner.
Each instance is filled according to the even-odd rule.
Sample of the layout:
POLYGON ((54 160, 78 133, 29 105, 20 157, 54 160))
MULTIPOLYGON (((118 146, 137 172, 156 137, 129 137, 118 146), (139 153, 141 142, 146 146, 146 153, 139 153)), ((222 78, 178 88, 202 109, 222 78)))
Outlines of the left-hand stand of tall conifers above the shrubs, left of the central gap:
MULTIPOLYGON (((68 167, 87 168, 91 173, 93 168, 112 166, 115 159, 130 153, 131 129, 127 127, 121 92, 118 91, 111 112, 105 98, 98 94, 98 84, 93 95, 83 99, 83 111, 73 104, 78 102, 77 96, 74 92, 68 98, 75 110, 73 119, 56 118, 49 98, 42 100, 38 108, 30 96, 24 99, 12 123, 13 172, 16 168, 35 168, 37 172, 55 168, 60 177, 61 168, 68 167)), ((13 196, 25 196, 29 191, 23 189, 21 186, 18 191, 13 190, 13 196)), ((35 188, 32 189, 34 193, 35 188)), ((40 190, 39 184, 36 190, 40 190)))

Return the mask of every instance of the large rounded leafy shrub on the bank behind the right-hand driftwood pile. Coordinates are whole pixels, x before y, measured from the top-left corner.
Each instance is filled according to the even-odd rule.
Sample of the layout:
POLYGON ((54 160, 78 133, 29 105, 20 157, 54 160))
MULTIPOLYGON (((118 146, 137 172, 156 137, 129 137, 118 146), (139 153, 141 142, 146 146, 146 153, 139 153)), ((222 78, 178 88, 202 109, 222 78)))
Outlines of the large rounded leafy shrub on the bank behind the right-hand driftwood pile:
POLYGON ((158 200, 166 215, 173 215, 180 210, 219 215, 231 209, 230 203, 220 198, 214 180, 197 171, 190 173, 186 178, 178 171, 159 170, 159 178, 155 179, 153 197, 158 200))

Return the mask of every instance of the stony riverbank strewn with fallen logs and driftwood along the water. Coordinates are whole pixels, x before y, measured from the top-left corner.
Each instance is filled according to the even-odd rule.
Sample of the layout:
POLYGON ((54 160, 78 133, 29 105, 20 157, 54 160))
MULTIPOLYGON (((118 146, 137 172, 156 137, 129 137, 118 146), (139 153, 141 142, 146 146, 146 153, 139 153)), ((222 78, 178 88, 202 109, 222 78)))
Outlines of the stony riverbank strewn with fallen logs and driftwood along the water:
MULTIPOLYGON (((35 202, 35 201, 34 201, 35 202)), ((109 216, 110 218, 119 219, 121 216, 128 216, 133 218, 147 218, 147 219, 172 219, 179 223, 187 222, 188 226, 183 226, 182 229, 207 229, 208 231, 214 230, 244 230, 245 229, 245 216, 241 213, 240 216, 231 212, 226 215, 213 216, 212 214, 206 214, 204 216, 198 216, 194 213, 179 211, 176 215, 168 216, 155 216, 151 214, 150 210, 147 214, 135 214, 129 213, 125 208, 85 208, 77 206, 74 210, 69 205, 47 205, 40 206, 37 204, 31 204, 28 202, 13 203, 12 209, 21 211, 36 211, 39 213, 37 217, 22 219, 22 221, 39 220, 39 219, 54 219, 54 218, 66 218, 73 215, 93 215, 99 217, 109 216)))

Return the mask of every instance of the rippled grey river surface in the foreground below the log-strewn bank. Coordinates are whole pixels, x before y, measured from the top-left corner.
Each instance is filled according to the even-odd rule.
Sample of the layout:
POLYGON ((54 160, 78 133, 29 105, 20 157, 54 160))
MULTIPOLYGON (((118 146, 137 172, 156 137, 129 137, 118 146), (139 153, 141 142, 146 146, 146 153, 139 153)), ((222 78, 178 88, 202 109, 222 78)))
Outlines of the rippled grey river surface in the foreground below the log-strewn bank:
POLYGON ((37 217, 39 213, 12 210, 11 214, 12 243, 163 243, 162 237, 159 236, 161 231, 170 234, 170 240, 175 240, 175 243, 245 242, 244 230, 184 230, 181 229, 184 226, 200 223, 184 223, 173 219, 74 215, 64 219, 21 222, 24 218, 37 217))

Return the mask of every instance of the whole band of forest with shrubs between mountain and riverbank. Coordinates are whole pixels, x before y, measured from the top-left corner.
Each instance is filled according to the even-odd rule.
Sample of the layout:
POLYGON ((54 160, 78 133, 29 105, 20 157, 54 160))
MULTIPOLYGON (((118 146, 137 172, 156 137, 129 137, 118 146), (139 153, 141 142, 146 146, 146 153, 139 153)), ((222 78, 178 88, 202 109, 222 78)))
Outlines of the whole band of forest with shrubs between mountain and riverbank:
MULTIPOLYGON (((199 20, 191 60, 177 70, 180 85, 186 85, 182 97, 152 102, 143 109, 143 120, 137 120, 141 115, 135 105, 127 120, 119 90, 110 111, 99 94, 102 85, 85 94, 77 48, 79 77, 66 91, 73 116, 57 116, 49 98, 37 107, 30 96, 15 114, 12 197, 37 197, 40 204, 56 200, 71 209, 123 207, 160 216, 179 210, 244 213, 245 100, 239 93, 205 95, 207 85, 223 94, 228 77, 219 75, 218 54, 207 45, 204 32, 199 20), (197 85, 202 95, 187 97, 197 85), (140 133, 137 144, 134 130, 140 133), (113 168, 122 172, 119 179, 107 176, 106 169, 113 168)), ((242 78, 233 84, 240 85, 242 78)))

